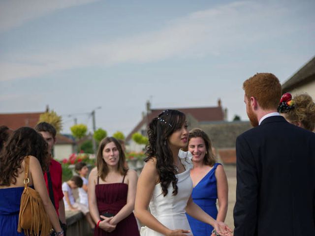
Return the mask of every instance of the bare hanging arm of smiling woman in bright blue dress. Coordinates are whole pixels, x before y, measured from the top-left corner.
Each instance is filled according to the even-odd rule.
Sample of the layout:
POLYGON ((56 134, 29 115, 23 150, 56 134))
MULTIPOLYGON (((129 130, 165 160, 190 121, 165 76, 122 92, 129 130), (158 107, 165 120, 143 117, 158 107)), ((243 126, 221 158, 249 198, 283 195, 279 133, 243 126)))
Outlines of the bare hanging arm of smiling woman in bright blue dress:
POLYGON ((228 186, 223 166, 218 165, 215 175, 217 178, 217 192, 219 203, 217 220, 224 222, 227 213, 228 186))

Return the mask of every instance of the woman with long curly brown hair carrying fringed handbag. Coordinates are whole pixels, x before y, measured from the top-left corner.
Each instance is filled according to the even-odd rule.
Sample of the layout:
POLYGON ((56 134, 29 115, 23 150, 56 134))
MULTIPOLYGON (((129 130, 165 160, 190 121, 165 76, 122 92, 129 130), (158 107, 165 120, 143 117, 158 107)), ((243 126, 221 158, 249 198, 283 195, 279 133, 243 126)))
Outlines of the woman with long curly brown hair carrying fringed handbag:
POLYGON ((14 131, 0 154, 0 235, 24 236, 24 232, 18 233, 17 228, 26 156, 30 156, 29 185, 39 193, 53 228, 63 236, 43 177, 49 158, 47 144, 30 127, 14 131))

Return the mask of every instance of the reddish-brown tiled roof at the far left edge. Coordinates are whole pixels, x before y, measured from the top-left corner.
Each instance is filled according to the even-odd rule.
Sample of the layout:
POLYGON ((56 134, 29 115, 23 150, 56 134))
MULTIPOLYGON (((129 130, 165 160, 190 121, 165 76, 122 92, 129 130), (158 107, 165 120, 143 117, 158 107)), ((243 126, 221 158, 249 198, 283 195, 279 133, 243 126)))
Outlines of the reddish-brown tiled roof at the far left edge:
POLYGON ((0 114, 0 125, 6 125, 13 130, 22 126, 35 127, 41 114, 43 112, 0 114))

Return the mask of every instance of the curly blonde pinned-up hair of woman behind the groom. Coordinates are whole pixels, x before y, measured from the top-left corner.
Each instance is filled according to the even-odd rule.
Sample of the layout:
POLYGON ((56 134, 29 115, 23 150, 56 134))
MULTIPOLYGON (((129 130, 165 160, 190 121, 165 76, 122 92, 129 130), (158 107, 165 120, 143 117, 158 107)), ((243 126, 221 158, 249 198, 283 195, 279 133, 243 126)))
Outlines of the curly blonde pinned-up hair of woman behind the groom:
POLYGON ((307 130, 314 131, 315 128, 315 103, 307 94, 299 94, 293 97, 294 108, 284 111, 285 118, 292 123, 301 122, 307 130))

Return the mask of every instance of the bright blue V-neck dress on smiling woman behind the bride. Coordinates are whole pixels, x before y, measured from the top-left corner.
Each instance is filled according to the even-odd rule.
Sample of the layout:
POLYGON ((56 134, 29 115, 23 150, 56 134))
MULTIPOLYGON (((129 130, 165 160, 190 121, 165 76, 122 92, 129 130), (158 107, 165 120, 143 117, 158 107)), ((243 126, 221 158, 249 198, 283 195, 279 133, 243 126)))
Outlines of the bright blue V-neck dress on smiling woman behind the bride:
MULTIPOLYGON (((214 219, 217 219, 217 178, 215 172, 220 163, 215 163, 213 168, 197 183, 192 190, 192 200, 207 214, 211 215, 214 219)), ((211 225, 205 224, 195 218, 192 218, 188 214, 187 218, 192 231, 193 236, 210 236, 213 230, 211 225)))

